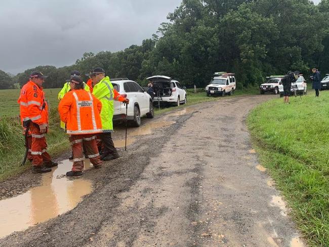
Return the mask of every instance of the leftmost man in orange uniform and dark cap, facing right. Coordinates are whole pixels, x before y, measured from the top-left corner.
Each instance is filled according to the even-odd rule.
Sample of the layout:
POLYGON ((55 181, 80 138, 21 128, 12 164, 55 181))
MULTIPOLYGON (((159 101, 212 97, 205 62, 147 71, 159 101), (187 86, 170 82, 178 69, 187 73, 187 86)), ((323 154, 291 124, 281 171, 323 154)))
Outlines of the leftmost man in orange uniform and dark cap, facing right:
POLYGON ((28 158, 32 161, 32 173, 47 173, 57 166, 47 152, 45 137, 48 133, 48 104, 42 85, 46 78, 39 71, 32 72, 18 99, 23 128, 29 128, 28 158))

